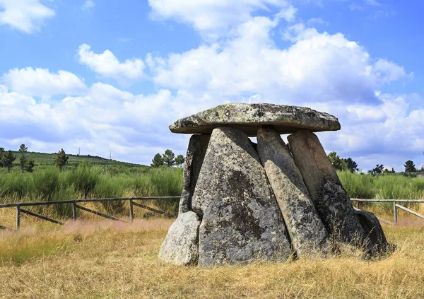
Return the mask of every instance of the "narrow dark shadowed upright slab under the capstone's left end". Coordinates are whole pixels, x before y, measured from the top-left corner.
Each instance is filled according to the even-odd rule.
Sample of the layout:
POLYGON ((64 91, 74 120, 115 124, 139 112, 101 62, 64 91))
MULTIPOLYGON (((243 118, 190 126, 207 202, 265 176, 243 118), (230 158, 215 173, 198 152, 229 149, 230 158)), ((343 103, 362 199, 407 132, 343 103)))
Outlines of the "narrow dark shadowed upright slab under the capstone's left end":
POLYGON ((184 160, 184 185, 181 199, 179 200, 179 214, 192 210, 194 187, 196 187, 197 177, 199 177, 201 164, 203 163, 210 138, 211 135, 208 134, 193 135, 190 138, 184 160))

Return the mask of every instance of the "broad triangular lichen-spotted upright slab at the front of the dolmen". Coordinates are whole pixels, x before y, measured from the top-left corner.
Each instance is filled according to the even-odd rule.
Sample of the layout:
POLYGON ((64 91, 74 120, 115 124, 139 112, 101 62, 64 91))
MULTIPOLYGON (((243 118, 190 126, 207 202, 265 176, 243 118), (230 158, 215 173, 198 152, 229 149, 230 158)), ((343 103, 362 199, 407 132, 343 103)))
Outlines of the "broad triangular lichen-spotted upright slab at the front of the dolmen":
POLYGON ((192 208, 203 215, 199 266, 285 260, 287 230, 265 170, 240 129, 214 129, 192 208))

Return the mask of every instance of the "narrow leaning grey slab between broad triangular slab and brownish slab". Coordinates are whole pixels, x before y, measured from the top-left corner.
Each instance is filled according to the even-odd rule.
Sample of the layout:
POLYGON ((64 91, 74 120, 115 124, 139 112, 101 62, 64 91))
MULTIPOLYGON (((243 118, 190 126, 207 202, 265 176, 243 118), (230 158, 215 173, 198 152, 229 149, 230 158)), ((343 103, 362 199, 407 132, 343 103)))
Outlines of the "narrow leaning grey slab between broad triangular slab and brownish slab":
POLYGON ((281 136, 272 127, 258 130, 257 151, 278 201, 291 244, 301 257, 324 256, 329 235, 281 136))

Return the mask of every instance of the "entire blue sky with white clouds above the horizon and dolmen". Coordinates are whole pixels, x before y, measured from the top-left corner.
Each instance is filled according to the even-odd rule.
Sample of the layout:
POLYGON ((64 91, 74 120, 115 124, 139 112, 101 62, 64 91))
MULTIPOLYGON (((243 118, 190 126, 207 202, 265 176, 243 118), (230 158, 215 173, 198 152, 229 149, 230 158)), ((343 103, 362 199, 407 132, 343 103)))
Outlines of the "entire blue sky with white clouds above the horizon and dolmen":
POLYGON ((327 152, 424 163, 422 1, 0 0, 0 146, 149 164, 224 102, 336 115, 327 152))

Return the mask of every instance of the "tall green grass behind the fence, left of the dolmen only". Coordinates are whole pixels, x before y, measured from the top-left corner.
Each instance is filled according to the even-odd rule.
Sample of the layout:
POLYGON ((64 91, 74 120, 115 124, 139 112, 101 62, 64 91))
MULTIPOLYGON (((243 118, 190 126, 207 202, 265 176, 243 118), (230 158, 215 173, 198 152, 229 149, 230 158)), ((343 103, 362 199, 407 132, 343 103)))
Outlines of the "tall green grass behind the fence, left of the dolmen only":
MULTIPOLYGON (((182 169, 163 168, 146 171, 116 172, 116 168, 81 163, 59 172, 53 166, 33 173, 0 173, 0 203, 22 201, 60 201, 68 199, 110 197, 178 196, 182 191, 182 169)), ((158 200, 154 204, 167 212, 177 208, 175 200, 158 200)), ((101 203, 110 213, 122 213, 124 201, 101 203)), ((42 206, 35 208, 44 209, 42 206)), ((71 217, 72 206, 54 205, 54 214, 71 217)))

